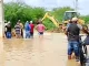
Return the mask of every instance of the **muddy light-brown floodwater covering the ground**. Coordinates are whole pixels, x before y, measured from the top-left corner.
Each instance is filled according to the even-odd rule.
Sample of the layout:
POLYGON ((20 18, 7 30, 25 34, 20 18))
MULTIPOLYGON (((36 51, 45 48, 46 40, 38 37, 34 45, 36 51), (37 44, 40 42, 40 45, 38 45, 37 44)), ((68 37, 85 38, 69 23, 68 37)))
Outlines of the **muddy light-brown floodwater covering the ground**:
POLYGON ((43 38, 34 35, 30 40, 3 40, 0 45, 0 66, 79 66, 75 59, 67 59, 67 37, 61 33, 48 33, 43 38))

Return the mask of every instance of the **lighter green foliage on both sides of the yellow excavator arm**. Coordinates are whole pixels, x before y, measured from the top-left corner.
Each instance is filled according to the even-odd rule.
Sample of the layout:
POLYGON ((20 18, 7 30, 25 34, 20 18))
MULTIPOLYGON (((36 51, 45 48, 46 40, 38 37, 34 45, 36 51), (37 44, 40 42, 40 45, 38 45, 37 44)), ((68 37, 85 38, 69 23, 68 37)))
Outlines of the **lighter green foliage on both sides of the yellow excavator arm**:
MULTIPOLYGON (((61 23, 63 20, 63 15, 66 11, 72 11, 73 9, 69 7, 65 8, 55 8, 52 11, 49 11, 49 14, 52 15, 57 22, 61 23)), ((44 20, 43 23, 47 25, 48 29, 53 30, 56 29, 55 24, 51 22, 51 20, 44 20), (50 26, 49 26, 50 25, 50 26)))

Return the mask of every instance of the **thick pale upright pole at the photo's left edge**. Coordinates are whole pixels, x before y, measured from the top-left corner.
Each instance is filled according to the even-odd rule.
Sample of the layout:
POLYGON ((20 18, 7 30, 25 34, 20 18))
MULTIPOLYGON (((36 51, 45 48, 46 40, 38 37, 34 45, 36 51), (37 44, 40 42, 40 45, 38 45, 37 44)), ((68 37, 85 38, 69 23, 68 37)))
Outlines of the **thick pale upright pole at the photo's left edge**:
POLYGON ((3 19, 3 0, 0 0, 0 38, 3 37, 4 32, 4 19, 3 19))

